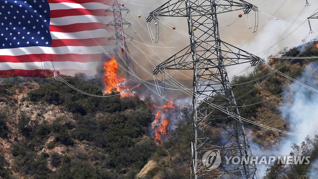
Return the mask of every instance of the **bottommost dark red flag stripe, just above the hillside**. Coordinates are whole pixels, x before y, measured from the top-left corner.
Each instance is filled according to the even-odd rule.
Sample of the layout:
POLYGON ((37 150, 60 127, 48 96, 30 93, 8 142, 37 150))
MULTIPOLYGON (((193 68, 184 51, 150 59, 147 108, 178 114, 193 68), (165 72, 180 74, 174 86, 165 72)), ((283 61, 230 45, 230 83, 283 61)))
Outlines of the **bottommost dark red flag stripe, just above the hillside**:
POLYGON ((42 70, 42 69, 36 69, 36 70, 22 70, 22 69, 0 70, 0 78, 16 77, 16 76, 47 78, 47 77, 53 77, 53 72, 52 72, 52 70, 42 70))

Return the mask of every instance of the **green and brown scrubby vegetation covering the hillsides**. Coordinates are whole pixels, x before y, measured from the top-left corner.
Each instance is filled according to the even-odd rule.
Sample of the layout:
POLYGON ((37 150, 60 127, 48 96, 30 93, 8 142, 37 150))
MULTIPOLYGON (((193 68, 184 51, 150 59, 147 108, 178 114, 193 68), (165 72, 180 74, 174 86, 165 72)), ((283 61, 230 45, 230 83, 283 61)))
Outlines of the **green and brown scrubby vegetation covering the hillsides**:
MULTIPOLYGON (((280 53, 318 56, 314 48, 302 54, 296 48, 280 53)), ((293 60, 281 66, 284 59, 273 58, 269 63, 297 77, 310 61, 293 60)), ((277 74, 267 79, 271 71, 262 65, 255 71, 262 83, 260 86, 255 84, 256 76, 252 74, 232 80, 240 114, 252 121, 288 130, 278 110, 280 96, 271 97, 283 92, 289 81, 277 74), (239 85, 242 83, 244 85, 239 85)), ((86 80, 83 75, 64 78, 83 91, 103 94, 97 82, 86 80)), ((120 97, 116 89, 108 95, 87 96, 56 79, 0 79, 0 179, 190 178, 191 113, 183 108, 176 118, 175 129, 169 133, 169 140, 158 145, 149 133, 149 124, 154 118, 152 99, 142 100, 138 95, 120 97)), ((277 132, 245 125, 251 129, 254 140, 265 148, 282 137, 277 132)), ((221 140, 218 128, 209 132, 221 140)), ((310 145, 314 147, 310 150, 307 147, 307 152, 316 158, 315 141, 310 145)), ((293 150, 299 151, 301 147, 294 146, 293 150)), ((271 166, 266 177, 292 178, 299 173, 293 177, 305 178, 308 167, 295 165, 282 175, 283 166, 271 166)))

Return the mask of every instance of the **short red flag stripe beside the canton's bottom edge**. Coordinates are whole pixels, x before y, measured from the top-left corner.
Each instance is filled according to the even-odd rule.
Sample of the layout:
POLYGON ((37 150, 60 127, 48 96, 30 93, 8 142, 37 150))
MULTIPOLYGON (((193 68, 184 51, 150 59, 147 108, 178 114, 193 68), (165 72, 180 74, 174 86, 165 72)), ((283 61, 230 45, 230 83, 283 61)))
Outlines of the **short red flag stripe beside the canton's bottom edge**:
MULTIPOLYGON (((94 39, 53 39, 51 47, 64 47, 64 46, 108 46, 111 45, 108 37, 100 37, 94 39)), ((98 48, 98 47, 97 47, 98 48)))

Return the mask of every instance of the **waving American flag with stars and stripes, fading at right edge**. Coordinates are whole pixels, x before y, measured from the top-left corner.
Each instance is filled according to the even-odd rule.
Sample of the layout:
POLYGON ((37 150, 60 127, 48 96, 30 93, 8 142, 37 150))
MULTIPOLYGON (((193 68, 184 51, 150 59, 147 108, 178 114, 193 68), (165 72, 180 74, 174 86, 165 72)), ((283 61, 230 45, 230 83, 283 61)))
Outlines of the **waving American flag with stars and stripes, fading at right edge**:
POLYGON ((0 0, 0 77, 94 70, 112 48, 109 0, 0 0), (53 65, 52 65, 53 63, 53 65), (53 67, 54 66, 54 67, 53 67))

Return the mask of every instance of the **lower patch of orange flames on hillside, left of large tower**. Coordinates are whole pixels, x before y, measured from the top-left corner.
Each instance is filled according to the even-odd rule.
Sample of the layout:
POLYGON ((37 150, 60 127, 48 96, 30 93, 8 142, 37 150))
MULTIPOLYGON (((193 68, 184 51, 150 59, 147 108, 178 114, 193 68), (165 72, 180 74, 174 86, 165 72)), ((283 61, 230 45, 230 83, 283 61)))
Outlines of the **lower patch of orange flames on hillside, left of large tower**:
POLYGON ((155 141, 161 143, 163 138, 168 135, 169 121, 171 122, 171 118, 176 116, 178 109, 172 102, 168 102, 161 107, 156 106, 155 109, 157 113, 151 127, 154 130, 155 141))

